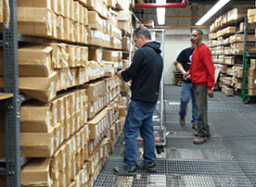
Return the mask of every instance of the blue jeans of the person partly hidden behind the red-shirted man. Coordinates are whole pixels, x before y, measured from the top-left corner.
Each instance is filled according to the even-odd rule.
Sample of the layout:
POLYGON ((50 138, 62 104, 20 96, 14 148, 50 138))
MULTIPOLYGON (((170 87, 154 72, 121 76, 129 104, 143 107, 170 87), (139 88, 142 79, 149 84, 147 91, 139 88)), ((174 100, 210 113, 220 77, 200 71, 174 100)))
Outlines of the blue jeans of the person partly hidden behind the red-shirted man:
POLYGON ((192 124, 198 124, 198 108, 196 104, 195 93, 192 83, 187 83, 182 81, 181 86, 181 105, 180 105, 180 118, 186 117, 186 106, 188 102, 192 99, 192 124))

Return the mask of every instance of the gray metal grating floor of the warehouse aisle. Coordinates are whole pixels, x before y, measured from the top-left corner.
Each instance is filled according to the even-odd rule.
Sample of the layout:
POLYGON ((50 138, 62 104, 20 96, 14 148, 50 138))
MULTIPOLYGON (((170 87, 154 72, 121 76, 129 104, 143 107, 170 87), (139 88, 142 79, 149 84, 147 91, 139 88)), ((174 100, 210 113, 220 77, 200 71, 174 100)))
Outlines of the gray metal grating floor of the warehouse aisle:
MULTIPOLYGON (((123 138, 98 176, 95 187, 252 187, 256 186, 256 104, 245 105, 237 96, 215 92, 209 99, 211 139, 195 145, 190 125, 179 125, 180 87, 166 86, 165 152, 158 156, 157 172, 138 171, 135 177, 118 177, 112 168, 122 164, 123 138)), ((139 148, 141 156, 141 147, 139 148)), ((141 158, 140 158, 141 159, 141 158)))

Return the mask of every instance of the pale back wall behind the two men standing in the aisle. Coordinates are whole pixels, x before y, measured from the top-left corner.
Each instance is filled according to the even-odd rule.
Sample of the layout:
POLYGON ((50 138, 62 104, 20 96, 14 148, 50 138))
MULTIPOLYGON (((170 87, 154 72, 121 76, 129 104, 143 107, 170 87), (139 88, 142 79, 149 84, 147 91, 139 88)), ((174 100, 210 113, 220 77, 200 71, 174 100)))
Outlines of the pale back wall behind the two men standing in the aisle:
MULTIPOLYGON (((202 30, 205 34, 204 43, 208 43, 209 30, 202 30)), ((173 62, 179 53, 190 46, 190 29, 168 29, 165 32, 164 40, 164 84, 173 84, 173 62)))

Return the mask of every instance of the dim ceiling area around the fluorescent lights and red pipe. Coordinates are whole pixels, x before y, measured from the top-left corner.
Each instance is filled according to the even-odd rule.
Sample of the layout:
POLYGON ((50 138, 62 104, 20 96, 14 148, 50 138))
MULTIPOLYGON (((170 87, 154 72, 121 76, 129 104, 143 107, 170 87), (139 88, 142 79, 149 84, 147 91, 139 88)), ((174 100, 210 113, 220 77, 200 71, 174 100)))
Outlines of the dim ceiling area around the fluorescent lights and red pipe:
MULTIPOLYGON (((136 3, 155 3, 156 0, 135 0, 136 3)), ((182 0, 167 0, 167 3, 181 3, 182 0)), ((156 8, 134 8, 134 13, 140 20, 153 19, 156 27, 164 28, 195 28, 195 23, 200 19, 217 0, 188 0, 186 8, 168 7, 166 8, 165 25, 158 26, 156 8)), ((209 25, 220 15, 237 6, 247 6, 255 8, 255 0, 231 0, 226 6, 219 10, 201 28, 208 28, 209 25)))

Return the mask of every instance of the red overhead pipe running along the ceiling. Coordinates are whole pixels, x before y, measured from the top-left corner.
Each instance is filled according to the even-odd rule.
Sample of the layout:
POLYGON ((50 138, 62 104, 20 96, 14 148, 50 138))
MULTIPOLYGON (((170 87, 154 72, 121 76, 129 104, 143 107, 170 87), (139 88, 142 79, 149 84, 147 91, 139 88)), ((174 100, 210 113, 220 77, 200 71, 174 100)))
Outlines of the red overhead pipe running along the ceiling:
POLYGON ((168 3, 168 4, 151 4, 151 3, 145 3, 145 4, 135 4, 135 8, 143 8, 143 7, 186 7, 188 5, 187 0, 182 0, 181 3, 168 3))

